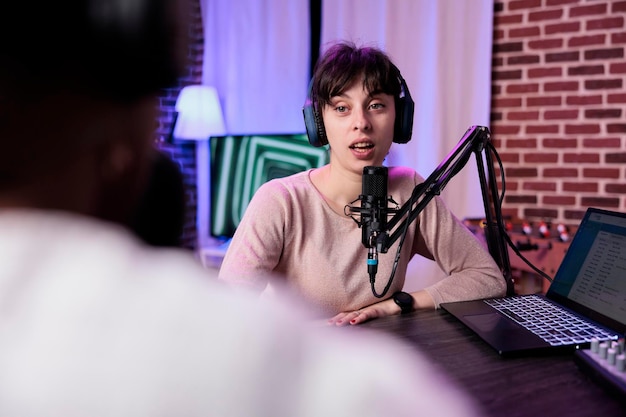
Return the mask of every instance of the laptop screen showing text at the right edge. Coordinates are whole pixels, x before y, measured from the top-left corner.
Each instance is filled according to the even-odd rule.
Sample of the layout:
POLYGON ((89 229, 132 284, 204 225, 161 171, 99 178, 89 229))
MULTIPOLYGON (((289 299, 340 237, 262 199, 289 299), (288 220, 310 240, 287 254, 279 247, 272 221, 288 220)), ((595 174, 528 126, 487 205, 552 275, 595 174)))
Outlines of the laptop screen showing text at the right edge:
POLYGON ((626 328, 626 214, 587 210, 547 297, 626 328))

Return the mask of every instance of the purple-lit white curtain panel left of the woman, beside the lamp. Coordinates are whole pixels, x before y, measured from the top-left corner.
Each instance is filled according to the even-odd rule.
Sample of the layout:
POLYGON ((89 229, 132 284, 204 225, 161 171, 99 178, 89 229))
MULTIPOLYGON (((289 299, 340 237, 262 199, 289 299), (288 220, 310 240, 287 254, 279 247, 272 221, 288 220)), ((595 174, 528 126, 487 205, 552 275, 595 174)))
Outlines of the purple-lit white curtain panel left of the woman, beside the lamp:
POLYGON ((201 0, 203 84, 219 92, 232 134, 304 132, 308 0, 201 0))

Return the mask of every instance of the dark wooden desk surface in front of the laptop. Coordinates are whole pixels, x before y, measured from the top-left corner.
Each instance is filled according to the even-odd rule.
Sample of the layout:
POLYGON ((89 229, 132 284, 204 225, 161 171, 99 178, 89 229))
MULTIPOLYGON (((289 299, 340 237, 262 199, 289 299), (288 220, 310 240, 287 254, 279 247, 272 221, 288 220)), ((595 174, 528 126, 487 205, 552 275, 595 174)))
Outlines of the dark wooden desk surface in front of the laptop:
POLYGON ((626 403, 578 369, 572 354, 502 358, 443 310, 391 316, 363 327, 419 349, 483 407, 487 416, 626 416, 626 403))

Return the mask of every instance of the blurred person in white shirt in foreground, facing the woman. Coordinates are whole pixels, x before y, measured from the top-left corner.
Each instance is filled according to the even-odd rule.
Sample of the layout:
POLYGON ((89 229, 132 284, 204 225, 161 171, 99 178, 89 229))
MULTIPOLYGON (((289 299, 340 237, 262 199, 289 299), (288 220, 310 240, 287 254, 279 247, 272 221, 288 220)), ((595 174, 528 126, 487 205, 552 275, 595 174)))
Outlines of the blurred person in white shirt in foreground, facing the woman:
POLYGON ((0 415, 475 415, 411 349, 304 328, 131 233, 177 10, 0 12, 0 415))

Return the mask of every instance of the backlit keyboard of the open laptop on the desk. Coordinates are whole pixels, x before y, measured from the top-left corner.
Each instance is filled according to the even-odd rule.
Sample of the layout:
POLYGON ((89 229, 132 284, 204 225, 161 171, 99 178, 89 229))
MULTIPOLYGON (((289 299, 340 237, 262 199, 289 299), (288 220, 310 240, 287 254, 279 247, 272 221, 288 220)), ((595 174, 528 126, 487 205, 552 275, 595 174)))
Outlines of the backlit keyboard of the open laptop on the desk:
POLYGON ((487 304, 522 325, 552 346, 617 340, 617 336, 538 295, 485 300, 487 304))

